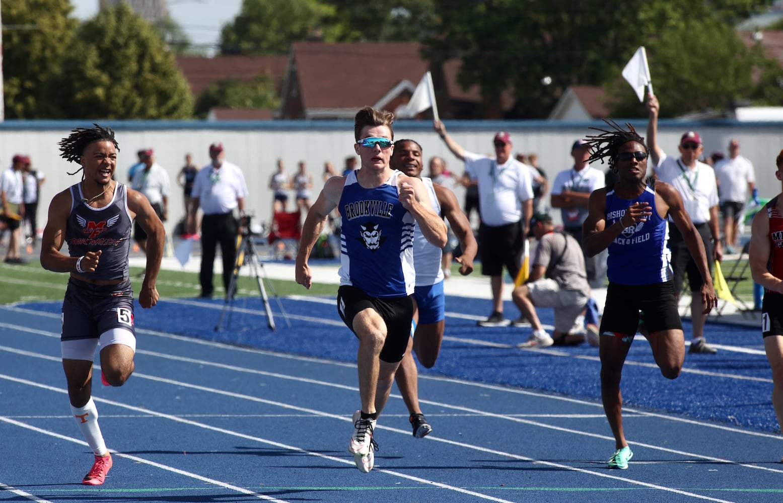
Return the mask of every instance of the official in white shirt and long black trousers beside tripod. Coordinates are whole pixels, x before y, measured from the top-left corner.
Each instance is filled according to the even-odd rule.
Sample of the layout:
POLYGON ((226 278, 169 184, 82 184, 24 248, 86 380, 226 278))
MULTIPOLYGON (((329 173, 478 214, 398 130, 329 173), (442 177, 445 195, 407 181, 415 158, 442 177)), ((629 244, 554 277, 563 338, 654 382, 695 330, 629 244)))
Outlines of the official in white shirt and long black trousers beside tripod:
POLYGON ((236 260, 236 235, 239 225, 234 210, 244 211, 247 185, 240 167, 225 160, 222 143, 209 146, 212 162, 201 168, 193 181, 193 211, 204 212, 201 219, 201 296, 211 297, 215 250, 220 243, 223 257, 223 286, 229 291, 231 272, 236 260))

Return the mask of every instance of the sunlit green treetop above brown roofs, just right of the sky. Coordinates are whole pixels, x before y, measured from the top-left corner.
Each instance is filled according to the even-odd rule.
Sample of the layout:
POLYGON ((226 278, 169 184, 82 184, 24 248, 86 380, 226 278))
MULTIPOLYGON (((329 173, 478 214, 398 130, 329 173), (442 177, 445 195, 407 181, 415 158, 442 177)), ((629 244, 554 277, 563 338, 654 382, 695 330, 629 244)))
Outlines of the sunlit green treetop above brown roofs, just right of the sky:
POLYGON ((323 35, 334 7, 317 0, 244 0, 220 35, 222 54, 286 54, 291 42, 323 35))

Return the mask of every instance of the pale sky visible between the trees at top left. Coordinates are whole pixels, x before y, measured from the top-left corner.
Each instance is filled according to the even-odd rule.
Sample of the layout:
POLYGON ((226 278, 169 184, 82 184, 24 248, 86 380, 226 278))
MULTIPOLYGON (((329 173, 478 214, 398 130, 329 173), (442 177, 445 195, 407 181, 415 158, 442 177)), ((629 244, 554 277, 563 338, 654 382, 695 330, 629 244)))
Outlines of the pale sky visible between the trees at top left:
MULTIPOLYGON (((81 20, 98 13, 98 0, 70 0, 74 16, 81 20)), ((210 45, 212 54, 223 24, 240 12, 242 0, 168 0, 171 17, 186 31, 194 45, 210 45)))

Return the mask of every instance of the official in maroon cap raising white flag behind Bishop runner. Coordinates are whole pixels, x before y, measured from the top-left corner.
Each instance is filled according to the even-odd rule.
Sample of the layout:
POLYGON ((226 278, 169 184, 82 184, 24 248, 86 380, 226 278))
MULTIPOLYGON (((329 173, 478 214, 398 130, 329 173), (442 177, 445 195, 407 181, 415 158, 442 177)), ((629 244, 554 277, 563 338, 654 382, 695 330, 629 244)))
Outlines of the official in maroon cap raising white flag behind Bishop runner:
MULTIPOLYGON (((691 217, 693 225, 702 236, 704 249, 709 261, 709 271, 713 270, 713 262, 723 259, 720 247, 720 228, 718 225, 718 188, 715 181, 715 171, 705 163, 698 161, 704 146, 702 137, 696 131, 686 131, 680 137, 680 158, 666 156, 658 145, 658 113, 659 102, 655 95, 648 95, 647 108, 650 117, 647 126, 647 142, 650 148, 650 158, 655 175, 661 181, 673 185, 683 198, 685 210, 691 217)), ((672 269, 674 272, 674 291, 679 300, 683 289, 685 275, 691 286, 691 325, 693 339, 689 353, 716 354, 717 350, 709 346, 704 338, 704 326, 707 320, 704 314, 705 306, 699 294, 702 288, 702 275, 691 253, 688 252, 685 240, 676 227, 670 229, 669 249, 672 250, 672 269)))

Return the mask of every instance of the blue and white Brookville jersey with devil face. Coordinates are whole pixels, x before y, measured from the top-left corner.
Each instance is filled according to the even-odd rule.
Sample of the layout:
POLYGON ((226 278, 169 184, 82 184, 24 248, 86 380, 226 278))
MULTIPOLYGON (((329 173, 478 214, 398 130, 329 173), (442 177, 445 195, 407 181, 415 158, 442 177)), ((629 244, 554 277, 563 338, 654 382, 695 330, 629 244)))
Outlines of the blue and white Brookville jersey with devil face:
POLYGON ((413 215, 399 202, 397 177, 364 189, 356 172, 345 177, 340 204, 340 284, 373 297, 413 294, 413 215))

